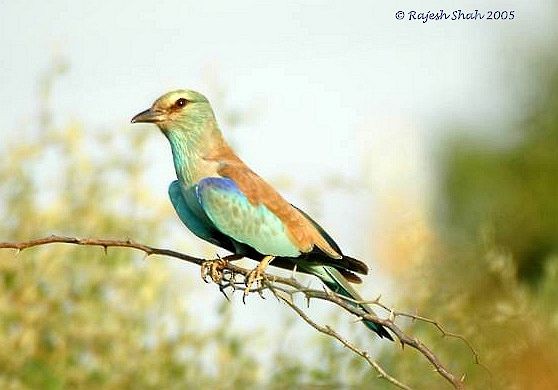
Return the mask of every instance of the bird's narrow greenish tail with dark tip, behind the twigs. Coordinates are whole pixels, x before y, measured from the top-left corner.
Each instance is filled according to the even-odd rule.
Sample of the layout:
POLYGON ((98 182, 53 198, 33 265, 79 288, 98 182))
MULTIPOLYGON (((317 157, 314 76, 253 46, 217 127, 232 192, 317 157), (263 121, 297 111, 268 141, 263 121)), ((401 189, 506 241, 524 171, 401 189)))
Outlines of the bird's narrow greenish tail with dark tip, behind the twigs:
MULTIPOLYGON (((308 270, 311 274, 320 278, 320 280, 333 292, 343 295, 345 297, 361 301, 362 298, 358 292, 349 284, 349 282, 341 275, 341 273, 330 266, 310 266, 308 270)), ((372 308, 365 304, 355 304, 366 313, 375 314, 372 308)), ((380 337, 385 337, 393 341, 391 335, 387 332, 386 328, 382 325, 376 324, 372 321, 363 321, 366 327, 378 334, 380 337)))

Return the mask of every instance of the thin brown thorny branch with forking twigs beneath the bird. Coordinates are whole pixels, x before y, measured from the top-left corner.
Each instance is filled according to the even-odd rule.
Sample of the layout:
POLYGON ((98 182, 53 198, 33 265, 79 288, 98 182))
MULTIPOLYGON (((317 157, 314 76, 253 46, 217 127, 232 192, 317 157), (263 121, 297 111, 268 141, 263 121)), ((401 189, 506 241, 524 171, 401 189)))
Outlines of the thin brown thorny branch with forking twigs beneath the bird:
MULTIPOLYGON (((0 242, 0 248, 11 248, 15 249, 18 252, 23 251, 28 248, 42 246, 47 244, 54 244, 54 243, 66 243, 66 244, 74 244, 74 245, 83 245, 83 246, 98 246, 107 251, 108 247, 124 247, 124 248, 133 248, 139 251, 142 251, 146 254, 146 256, 151 255, 162 255, 167 257, 174 257, 176 259, 180 259, 183 261, 187 261, 189 263, 193 263, 199 266, 202 266, 202 269, 206 267, 207 260, 200 259, 197 257, 189 256, 180 252, 176 252, 170 249, 161 249, 155 248, 152 246, 148 246, 142 243, 134 242, 132 240, 107 240, 107 239, 94 239, 94 238, 74 238, 74 237, 64 237, 64 236, 56 236, 52 235, 50 237, 44 237, 36 240, 30 241, 22 241, 22 242, 0 242)), ((213 281, 218 284, 220 291, 225 294, 225 290, 227 288, 231 288, 234 290, 244 290, 243 281, 237 280, 236 276, 240 275, 243 276, 244 279, 250 273, 249 269, 237 266, 233 264, 232 260, 237 260, 239 257, 236 255, 227 256, 219 260, 219 277, 215 278, 215 272, 213 271, 210 275, 213 281)), ((245 282, 245 280, 244 280, 245 282)), ((260 281, 260 285, 258 288, 250 289, 251 292, 258 292, 262 294, 264 290, 270 290, 280 301, 285 302, 292 310, 296 312, 304 321, 306 321, 309 325, 311 325, 317 331, 324 333, 328 336, 331 336, 337 339, 341 344, 345 347, 349 348, 355 354, 361 356, 366 362, 373 367, 376 372, 378 373, 378 377, 383 378, 393 385, 402 388, 402 389, 410 389, 409 386, 401 383, 399 380, 395 379, 393 376, 389 375, 376 361, 374 361, 368 352, 358 349, 354 344, 350 341, 343 338, 339 333, 333 330, 329 326, 322 326, 314 322, 306 313, 298 307, 293 302, 293 295, 294 294, 303 294, 303 296, 309 301, 311 299, 320 299, 324 301, 329 301, 344 310, 348 311, 349 313, 357 316, 360 321, 372 321, 377 324, 383 325, 384 327, 388 328, 399 340, 402 346, 408 345, 411 348, 416 349, 419 353, 421 353, 434 367, 434 370, 438 372, 443 378, 445 378, 454 388, 456 389, 463 389, 464 386, 464 376, 457 377, 455 374, 450 372, 446 366, 440 361, 440 359, 434 354, 434 352, 428 348, 426 345, 422 343, 418 338, 411 336, 405 333, 396 323, 395 320, 397 317, 408 317, 413 320, 423 321, 435 326, 443 336, 454 337, 462 340, 467 344, 469 349, 471 350, 474 360, 477 364, 479 363, 479 357, 477 352, 473 349, 471 344, 468 340, 466 340, 463 336, 451 333, 446 331, 438 322, 422 317, 416 314, 408 314, 403 313, 400 311, 395 311, 383 303, 380 302, 379 297, 373 301, 354 301, 349 298, 343 297, 341 295, 335 294, 330 291, 325 290, 315 290, 310 289, 302 285, 295 277, 294 273, 293 276, 290 278, 265 274, 263 280, 260 281), (387 319, 380 318, 374 314, 369 314, 364 312, 358 306, 355 306, 355 303, 367 303, 371 305, 376 305, 389 313, 389 317, 387 319)))

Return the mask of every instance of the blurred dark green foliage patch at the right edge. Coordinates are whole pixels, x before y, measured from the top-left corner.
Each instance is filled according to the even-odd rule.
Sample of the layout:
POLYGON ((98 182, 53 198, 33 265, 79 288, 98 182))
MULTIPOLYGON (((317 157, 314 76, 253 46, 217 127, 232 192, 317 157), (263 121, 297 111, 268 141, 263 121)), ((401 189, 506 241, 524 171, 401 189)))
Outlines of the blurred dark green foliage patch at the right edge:
POLYGON ((533 285, 558 254, 558 70, 544 76, 537 101, 511 131, 513 146, 498 147, 512 134, 463 137, 441 162, 446 226, 465 240, 492 228, 518 276, 533 285))

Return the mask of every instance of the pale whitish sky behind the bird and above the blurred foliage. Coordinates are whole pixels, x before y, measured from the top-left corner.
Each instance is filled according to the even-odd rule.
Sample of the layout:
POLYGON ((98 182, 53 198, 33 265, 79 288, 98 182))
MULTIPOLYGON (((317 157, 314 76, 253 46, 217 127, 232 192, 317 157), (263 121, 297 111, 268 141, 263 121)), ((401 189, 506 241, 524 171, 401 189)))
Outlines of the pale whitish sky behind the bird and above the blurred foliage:
MULTIPOLYGON (((15 137, 13 130, 34 125, 26 118, 38 111, 37 80, 55 55, 70 65, 53 95, 56 122, 76 119, 92 131, 130 126, 170 89, 197 89, 211 100, 218 83, 227 107, 252 113, 234 140, 262 176, 311 186, 333 172, 367 184, 332 191, 318 210, 345 252, 367 258, 369 237, 359 232, 382 229, 376 200, 400 190, 428 202, 431 150, 444 123, 482 128, 513 119, 514 51, 550 35, 555 21, 550 1, 2 0, 0 132, 15 137), (516 17, 395 19, 398 10, 440 8, 514 10, 516 17)), ((219 117, 223 107, 214 108, 219 117)), ((149 127, 136 130, 152 131, 152 191, 166 198, 174 177, 166 140, 149 127)), ((287 195, 314 207, 295 190, 287 195)), ((183 233, 177 219, 176 234, 183 233)), ((368 262, 375 272, 366 291, 385 296, 386 286, 396 286, 368 262)), ((201 288, 192 301, 220 299, 196 269, 187 272, 201 288)), ((237 326, 287 310, 271 299, 251 301, 237 305, 237 326)))

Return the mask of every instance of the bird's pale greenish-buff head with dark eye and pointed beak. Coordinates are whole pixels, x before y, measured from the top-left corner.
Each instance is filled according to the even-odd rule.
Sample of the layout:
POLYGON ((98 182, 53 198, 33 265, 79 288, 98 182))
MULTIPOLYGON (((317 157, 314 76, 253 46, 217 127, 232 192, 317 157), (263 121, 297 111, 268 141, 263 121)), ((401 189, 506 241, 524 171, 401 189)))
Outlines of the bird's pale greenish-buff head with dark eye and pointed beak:
POLYGON ((214 120, 209 101, 201 93, 180 89, 164 94, 132 118, 132 123, 154 123, 162 131, 193 130, 214 120))

